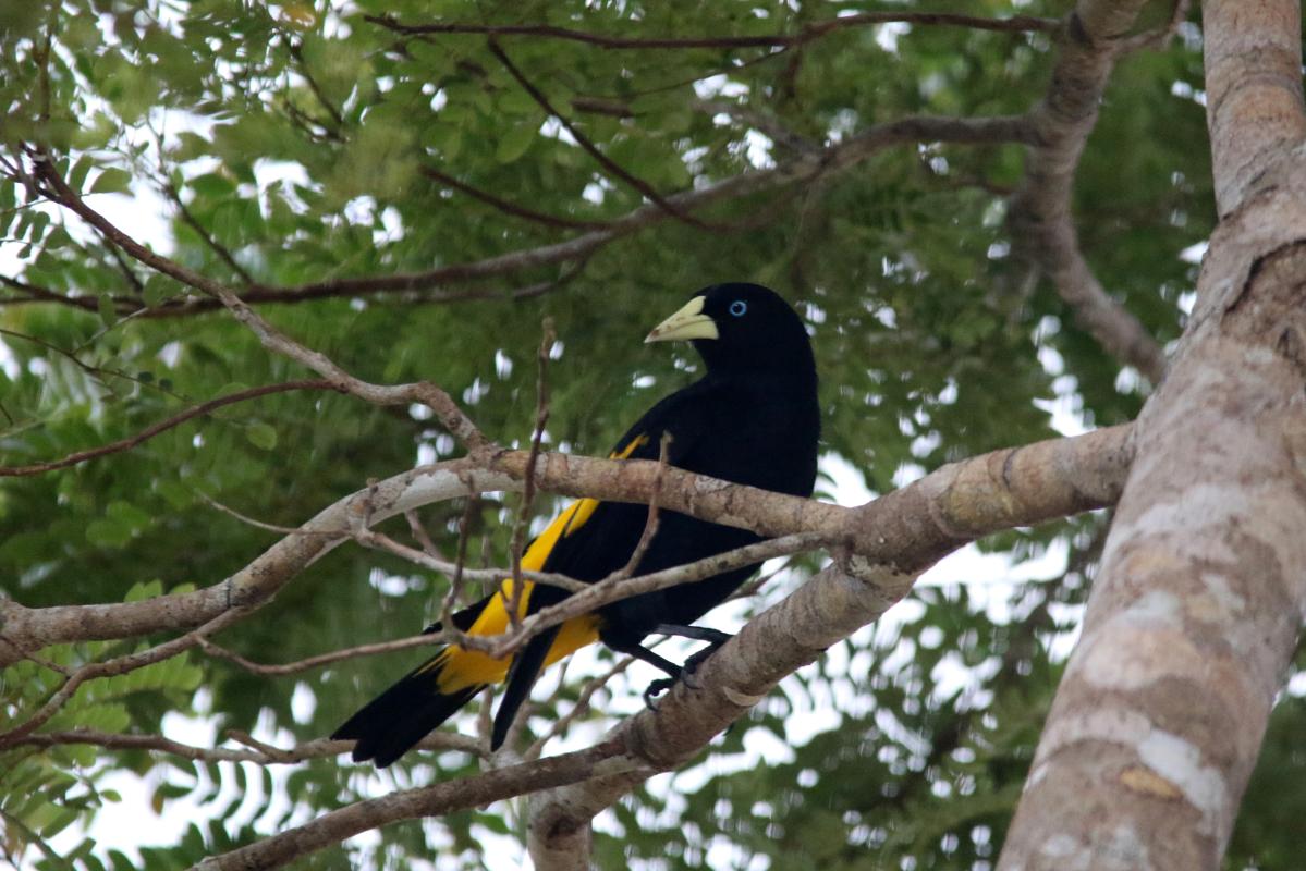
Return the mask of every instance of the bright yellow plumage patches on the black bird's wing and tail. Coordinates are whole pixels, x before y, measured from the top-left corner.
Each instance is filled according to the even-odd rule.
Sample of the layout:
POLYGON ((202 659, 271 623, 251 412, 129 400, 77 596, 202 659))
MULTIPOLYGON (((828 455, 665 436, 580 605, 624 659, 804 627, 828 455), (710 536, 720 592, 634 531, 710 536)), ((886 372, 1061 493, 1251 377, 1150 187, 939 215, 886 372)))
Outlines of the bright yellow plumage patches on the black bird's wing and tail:
MULTIPOLYGON (((611 460, 627 460, 641 445, 648 444, 646 435, 631 439, 622 451, 609 454, 611 460)), ((573 534, 598 508, 597 499, 577 499, 567 505, 552 522, 539 533, 530 543, 526 552, 521 555, 521 567, 529 572, 542 571, 549 554, 559 538, 573 534)), ((534 586, 530 581, 522 581, 518 615, 525 616, 526 606, 530 602, 530 590, 534 586)), ((512 601, 512 578, 504 578, 499 585, 499 593, 490 599, 490 603, 477 615, 475 623, 468 629, 468 635, 500 635, 508 631, 508 605, 512 601)), ((588 644, 598 641, 598 619, 586 614, 563 623, 558 637, 554 639, 545 665, 550 666, 569 653, 573 653, 588 644)), ((441 693, 452 693, 458 689, 482 684, 500 683, 508 676, 508 659, 494 659, 478 650, 464 650, 453 644, 440 652, 438 657, 424 665, 421 671, 436 671, 439 674, 438 688, 441 693)))

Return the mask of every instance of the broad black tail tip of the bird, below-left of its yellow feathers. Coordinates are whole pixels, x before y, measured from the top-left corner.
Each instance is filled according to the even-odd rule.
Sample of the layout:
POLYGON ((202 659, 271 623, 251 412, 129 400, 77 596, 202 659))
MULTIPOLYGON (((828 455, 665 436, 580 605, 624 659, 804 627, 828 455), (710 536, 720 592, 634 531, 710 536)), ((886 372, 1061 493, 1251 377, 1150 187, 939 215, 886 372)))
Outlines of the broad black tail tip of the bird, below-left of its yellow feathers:
POLYGON ((375 760, 385 768, 485 688, 477 684, 445 695, 438 688, 439 674, 439 669, 409 673, 350 717, 332 739, 357 740, 355 763, 375 760))

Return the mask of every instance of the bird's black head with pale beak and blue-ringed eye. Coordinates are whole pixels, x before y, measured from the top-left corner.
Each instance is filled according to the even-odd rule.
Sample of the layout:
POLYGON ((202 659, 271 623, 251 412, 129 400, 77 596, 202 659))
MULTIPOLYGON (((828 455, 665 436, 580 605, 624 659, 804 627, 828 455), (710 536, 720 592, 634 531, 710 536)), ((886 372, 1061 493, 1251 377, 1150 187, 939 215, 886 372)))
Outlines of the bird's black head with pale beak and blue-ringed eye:
POLYGON ((688 340, 709 371, 789 371, 815 377, 802 319, 761 285, 713 285, 653 328, 645 342, 688 340))

